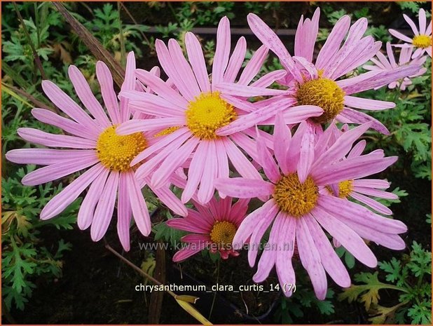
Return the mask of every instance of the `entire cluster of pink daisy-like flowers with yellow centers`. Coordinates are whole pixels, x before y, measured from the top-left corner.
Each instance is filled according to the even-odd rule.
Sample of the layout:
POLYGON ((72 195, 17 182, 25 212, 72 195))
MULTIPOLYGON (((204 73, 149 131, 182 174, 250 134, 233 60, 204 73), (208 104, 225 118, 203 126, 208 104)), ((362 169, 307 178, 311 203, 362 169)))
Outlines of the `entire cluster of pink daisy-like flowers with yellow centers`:
POLYGON ((118 236, 128 251, 132 217, 144 236, 151 232, 142 194, 147 186, 179 216, 167 224, 190 232, 182 238, 186 247, 174 255, 175 262, 205 248, 223 259, 235 257, 247 243, 253 267, 270 229, 270 245, 261 253, 254 281, 265 280, 275 266, 280 283, 296 283, 296 245, 319 299, 327 292, 326 273, 338 285, 350 285, 328 234, 334 244, 370 267, 377 260, 365 240, 403 249, 399 234, 406 226, 384 217, 392 212, 373 199, 395 198, 384 190, 390 184, 368 178, 397 157, 385 157, 380 149, 365 154, 366 141, 359 140, 369 129, 389 134, 385 125, 361 110, 391 109, 395 104, 357 94, 386 85, 404 89, 410 77, 423 74, 422 53, 431 55, 431 45, 420 50, 420 44, 424 36, 431 42, 431 23, 425 27, 421 11, 419 31, 406 19, 413 40, 392 32, 411 43, 402 45, 397 63, 390 44, 386 58, 380 53, 381 42, 364 36, 365 18, 351 24, 347 15, 317 51, 319 14, 317 9, 311 20, 301 18, 294 56, 265 22, 249 14, 249 27, 263 46, 243 69, 247 44, 240 37, 231 50, 228 18, 219 22, 212 67, 207 67, 200 41, 191 32, 185 35, 186 56, 176 40, 156 41, 167 80, 158 67, 136 69, 134 54, 129 53, 125 81, 116 95, 108 67, 98 62, 104 106, 74 66, 69 78, 85 109, 55 84, 43 81, 43 91, 64 115, 46 109, 32 114, 64 133, 20 128, 24 140, 44 148, 13 149, 6 158, 45 165, 22 179, 29 186, 86 170, 46 205, 41 219, 59 215, 88 189, 78 226, 90 226, 97 241, 116 208, 118 236), (417 50, 412 54, 413 47, 417 50), (283 69, 259 77, 269 50, 283 69), (366 65, 369 60, 375 65, 366 65), (352 74, 363 66, 371 71, 352 74), (270 88, 275 84, 279 87, 270 88), (338 122, 345 123, 343 128, 337 128, 338 122), (350 128, 348 123, 358 126, 350 128), (273 126, 273 135, 259 125, 273 126), (180 198, 173 186, 181 189, 180 198), (251 198, 264 203, 248 213, 251 198))

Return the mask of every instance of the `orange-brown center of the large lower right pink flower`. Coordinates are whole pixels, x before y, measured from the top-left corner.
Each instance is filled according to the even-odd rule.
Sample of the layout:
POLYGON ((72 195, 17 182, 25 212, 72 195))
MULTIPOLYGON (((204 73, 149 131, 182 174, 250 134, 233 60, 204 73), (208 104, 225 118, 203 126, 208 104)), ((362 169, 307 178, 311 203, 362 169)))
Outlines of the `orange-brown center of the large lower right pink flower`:
POLYGON ((293 217, 301 217, 315 208, 319 191, 312 177, 299 182, 298 173, 283 175, 273 194, 278 207, 293 217))

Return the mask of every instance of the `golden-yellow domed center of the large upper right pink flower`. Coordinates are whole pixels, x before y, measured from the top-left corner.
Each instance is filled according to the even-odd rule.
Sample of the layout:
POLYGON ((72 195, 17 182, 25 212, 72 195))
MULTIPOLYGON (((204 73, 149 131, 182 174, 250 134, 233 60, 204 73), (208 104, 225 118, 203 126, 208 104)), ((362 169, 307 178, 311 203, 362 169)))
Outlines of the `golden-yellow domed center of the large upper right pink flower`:
POLYGON ((317 105, 323 114, 313 120, 325 123, 344 109, 344 91, 335 81, 327 78, 312 79, 298 86, 296 100, 299 105, 317 105))

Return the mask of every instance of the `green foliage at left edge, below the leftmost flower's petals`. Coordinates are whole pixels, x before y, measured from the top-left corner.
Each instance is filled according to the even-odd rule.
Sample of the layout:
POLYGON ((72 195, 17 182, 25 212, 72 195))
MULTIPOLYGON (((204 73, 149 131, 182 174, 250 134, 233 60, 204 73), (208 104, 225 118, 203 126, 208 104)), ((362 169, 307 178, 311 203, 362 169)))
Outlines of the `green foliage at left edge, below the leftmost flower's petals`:
POLYGON ((58 240, 57 249, 43 245, 41 231, 46 225, 57 229, 72 229, 80 205, 77 200, 62 215, 41 221, 39 214, 53 193, 59 193, 61 186, 51 182, 38 188, 23 186, 20 179, 34 169, 20 168, 16 177, 1 179, 2 226, 2 293, 8 309, 14 304, 20 310, 32 294, 36 276, 46 278, 62 275, 62 255, 71 249, 70 243, 58 240))

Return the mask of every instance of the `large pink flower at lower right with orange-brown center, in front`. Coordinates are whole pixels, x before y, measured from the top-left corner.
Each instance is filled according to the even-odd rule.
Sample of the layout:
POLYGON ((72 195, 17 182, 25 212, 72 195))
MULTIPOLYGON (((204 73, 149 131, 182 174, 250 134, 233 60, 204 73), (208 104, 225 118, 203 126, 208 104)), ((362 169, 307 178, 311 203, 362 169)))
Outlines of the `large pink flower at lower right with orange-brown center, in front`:
MULTIPOLYGON (((385 158, 381 150, 342 160, 370 125, 365 123, 343 133, 327 148, 329 133, 324 132, 315 140, 316 135, 307 121, 301 123, 291 137, 289 128, 278 114, 273 136, 277 163, 263 139, 259 137, 257 140, 259 163, 269 181, 246 178, 216 180, 217 189, 227 196, 271 196, 261 208, 245 218, 233 238, 234 249, 242 247, 249 239, 248 260, 250 266, 254 266, 261 238, 273 223, 254 282, 265 280, 275 265, 280 283, 294 284, 296 279, 291 257, 296 243, 301 264, 308 272, 319 299, 324 299, 327 293, 325 271, 338 285, 348 287, 348 271, 322 227, 359 262, 370 267, 376 266, 377 259, 363 238, 396 250, 405 247, 399 237, 399 233, 406 232, 402 222, 319 191, 321 186, 380 172, 397 160, 397 157, 385 158)), ((291 291, 285 294, 290 296, 291 291)))

